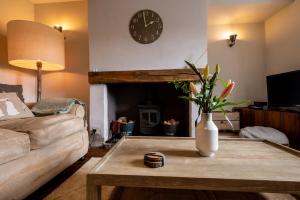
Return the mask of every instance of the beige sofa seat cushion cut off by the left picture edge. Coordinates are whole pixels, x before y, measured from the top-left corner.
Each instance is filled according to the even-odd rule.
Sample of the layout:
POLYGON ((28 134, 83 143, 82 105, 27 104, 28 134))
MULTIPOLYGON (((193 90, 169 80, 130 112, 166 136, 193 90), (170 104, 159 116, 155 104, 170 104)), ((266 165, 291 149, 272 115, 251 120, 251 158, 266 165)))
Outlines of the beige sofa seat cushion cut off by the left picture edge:
POLYGON ((0 164, 20 158, 29 152, 28 134, 0 129, 0 164))

